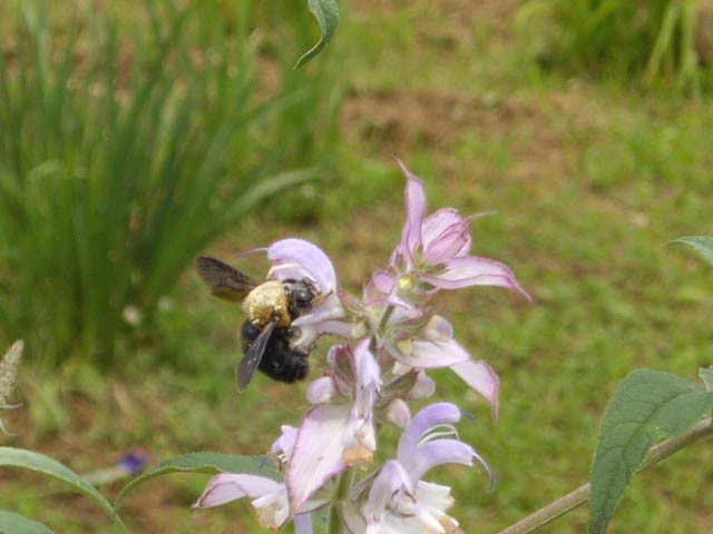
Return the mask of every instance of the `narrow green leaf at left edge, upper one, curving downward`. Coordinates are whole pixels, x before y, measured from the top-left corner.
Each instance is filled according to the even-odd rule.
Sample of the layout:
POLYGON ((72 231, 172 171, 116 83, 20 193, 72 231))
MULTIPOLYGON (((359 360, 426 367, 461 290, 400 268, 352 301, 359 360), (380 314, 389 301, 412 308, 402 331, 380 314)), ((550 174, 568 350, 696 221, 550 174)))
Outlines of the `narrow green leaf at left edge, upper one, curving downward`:
POLYGON ((91 497, 109 517, 116 521, 123 530, 126 530, 120 520, 114 514, 111 504, 91 484, 56 459, 23 448, 0 447, 0 466, 3 465, 35 471, 71 486, 79 493, 91 497))

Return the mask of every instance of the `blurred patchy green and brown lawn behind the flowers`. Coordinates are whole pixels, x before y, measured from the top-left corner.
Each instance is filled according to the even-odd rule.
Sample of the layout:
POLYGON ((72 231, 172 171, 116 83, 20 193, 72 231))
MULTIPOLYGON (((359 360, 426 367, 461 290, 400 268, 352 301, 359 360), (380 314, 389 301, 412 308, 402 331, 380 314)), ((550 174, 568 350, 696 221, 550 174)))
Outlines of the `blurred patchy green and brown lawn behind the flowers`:
MULTIPOLYGON (((345 6, 334 46, 314 61, 346 55, 350 95, 344 141, 330 155, 335 170, 314 185, 316 201, 300 216, 285 207, 289 196, 263 204, 208 251, 228 259, 303 236, 359 291, 400 236, 394 155, 427 180, 431 208, 497 210, 475 224, 475 251, 512 266, 535 306, 492 288, 439 301, 458 339, 500 375, 497 424, 457 377, 434 376, 438 399, 476 414, 461 435, 499 484, 488 493, 486 477, 466 467, 429 476, 455 485, 453 514, 466 532, 495 533, 586 482, 597 422, 632 369, 694 378, 711 364, 711 270, 663 245, 713 233, 713 106, 540 71, 514 39, 512 9, 490 2, 368 3, 345 6)), ((251 257, 241 266, 257 274, 266 263, 251 257)), ((156 461, 197 449, 263 453, 280 424, 296 424, 304 385, 258 376, 246 394, 235 392, 240 312, 212 299, 184 267, 157 310, 157 340, 108 378, 85 369, 69 383, 27 367, 25 407, 3 413, 17 433, 8 443, 86 472, 131 446, 156 461)), ((702 443, 635 478, 612 532, 709 532, 712 459, 702 443)), ((7 508, 60 532, 109 532, 89 504, 47 495, 52 486, 31 481, 4 476, 7 508)), ((260 532, 246 503, 191 511, 203 482, 153 482, 127 503, 127 521, 136 532, 260 532)), ((583 508, 546 532, 579 533, 585 524, 583 508)))

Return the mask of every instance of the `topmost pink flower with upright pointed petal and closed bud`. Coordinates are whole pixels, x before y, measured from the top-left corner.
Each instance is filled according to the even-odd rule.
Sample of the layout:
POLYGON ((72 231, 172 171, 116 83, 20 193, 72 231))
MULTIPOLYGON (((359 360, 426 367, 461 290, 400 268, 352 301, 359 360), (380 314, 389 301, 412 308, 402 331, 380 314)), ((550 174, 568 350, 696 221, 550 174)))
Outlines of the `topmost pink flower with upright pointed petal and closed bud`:
POLYGON ((500 286, 531 300, 509 267, 470 256, 470 222, 475 217, 461 217, 452 208, 440 209, 426 217, 423 182, 401 161, 399 165, 407 178, 407 221, 401 243, 391 259, 392 271, 382 271, 379 285, 390 287, 397 295, 418 289, 423 284, 432 288, 430 290, 500 286), (391 281, 388 280, 389 275, 391 281))

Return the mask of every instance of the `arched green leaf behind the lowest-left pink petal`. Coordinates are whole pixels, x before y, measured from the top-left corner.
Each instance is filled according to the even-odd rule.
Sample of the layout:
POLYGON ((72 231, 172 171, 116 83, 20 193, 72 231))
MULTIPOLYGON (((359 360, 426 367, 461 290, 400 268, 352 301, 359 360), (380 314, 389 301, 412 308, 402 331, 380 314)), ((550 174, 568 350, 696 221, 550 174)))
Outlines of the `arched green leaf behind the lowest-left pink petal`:
POLYGON ((157 476, 170 473, 246 473, 261 475, 275 481, 282 481, 282 475, 277 472, 274 462, 266 456, 241 456, 237 454, 222 453, 191 453, 183 456, 162 462, 153 469, 147 471, 141 476, 134 478, 119 492, 114 503, 114 510, 118 512, 121 503, 129 493, 138 486, 156 478, 157 476))

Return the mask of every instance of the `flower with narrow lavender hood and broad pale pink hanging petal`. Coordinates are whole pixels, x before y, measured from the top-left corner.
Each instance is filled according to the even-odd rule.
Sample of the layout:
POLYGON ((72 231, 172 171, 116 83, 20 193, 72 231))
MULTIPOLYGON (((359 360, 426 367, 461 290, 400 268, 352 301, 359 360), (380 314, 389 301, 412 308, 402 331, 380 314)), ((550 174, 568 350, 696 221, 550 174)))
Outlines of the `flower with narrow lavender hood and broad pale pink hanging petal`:
POLYGON ((342 347, 353 365, 352 404, 320 404, 300 425, 290 465, 287 490, 297 510, 332 476, 350 465, 365 467, 377 448, 373 405, 381 387, 379 365, 364 339, 354 349, 342 347))

